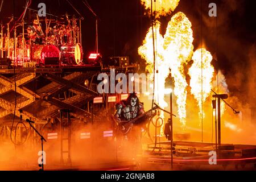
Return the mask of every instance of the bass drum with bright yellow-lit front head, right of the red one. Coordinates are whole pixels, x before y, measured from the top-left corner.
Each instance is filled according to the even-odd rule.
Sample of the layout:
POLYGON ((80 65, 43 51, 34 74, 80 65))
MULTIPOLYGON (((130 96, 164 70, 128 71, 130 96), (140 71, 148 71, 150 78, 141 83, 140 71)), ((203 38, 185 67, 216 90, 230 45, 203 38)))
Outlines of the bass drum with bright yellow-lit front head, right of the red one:
POLYGON ((79 65, 82 62, 83 52, 81 44, 64 45, 60 47, 60 51, 63 64, 79 65))

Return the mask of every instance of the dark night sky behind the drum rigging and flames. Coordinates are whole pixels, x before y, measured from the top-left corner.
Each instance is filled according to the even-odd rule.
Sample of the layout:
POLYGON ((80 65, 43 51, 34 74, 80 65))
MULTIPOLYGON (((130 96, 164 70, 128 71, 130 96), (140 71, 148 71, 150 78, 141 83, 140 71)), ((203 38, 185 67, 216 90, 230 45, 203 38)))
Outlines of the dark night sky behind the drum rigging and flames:
MULTIPOLYGON (((69 0, 71 1, 71 0, 69 0)), ((157 0, 156 0, 157 1, 157 0)), ((26 0, 15 1, 15 16, 18 17, 26 0)), ((44 2, 47 13, 54 15, 77 15, 65 0, 32 0, 32 9, 44 2)), ((82 22, 82 43, 87 56, 94 51, 95 44, 95 18, 81 3, 81 0, 71 1, 85 17, 82 22)), ((207 49, 216 53, 216 19, 208 16, 208 5, 211 2, 218 6, 218 67, 224 71, 231 93, 240 95, 249 94, 249 72, 251 61, 249 52, 255 50, 255 1, 254 0, 180 0, 174 11, 182 11, 192 22, 194 47, 200 47, 201 36, 207 49), (201 11, 203 10, 203 11, 201 11), (203 22, 200 15, 203 13, 203 22), (203 32, 201 31, 203 30, 203 32), (254 48, 253 48, 254 46, 254 48), (239 94, 238 94, 239 93, 239 94)), ((130 56, 131 60, 142 63, 137 49, 141 46, 147 29, 150 27, 150 18, 139 0, 88 0, 89 5, 100 18, 99 22, 99 49, 104 56, 130 56)), ((6 16, 13 14, 13 1, 4 1, 0 14, 3 23, 6 16)), ((28 11, 29 13, 29 11, 28 11)), ((169 16, 162 17, 162 32, 167 26, 169 16)), ((255 59, 254 59, 255 60, 255 59)), ((255 76, 255 74, 254 74, 255 76)), ((255 77, 254 77, 255 80, 255 77)))

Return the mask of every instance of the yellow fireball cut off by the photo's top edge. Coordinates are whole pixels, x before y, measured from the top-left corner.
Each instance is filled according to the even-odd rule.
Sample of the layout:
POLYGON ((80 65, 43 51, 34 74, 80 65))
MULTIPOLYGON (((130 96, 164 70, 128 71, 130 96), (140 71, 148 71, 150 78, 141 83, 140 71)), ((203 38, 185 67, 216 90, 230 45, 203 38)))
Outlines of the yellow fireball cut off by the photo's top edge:
MULTIPOLYGON (((171 11, 174 11, 179 5, 180 0, 158 0, 154 3, 154 8, 156 12, 156 17, 159 15, 165 16, 170 14, 171 11)), ((142 5, 145 6, 145 9, 151 9, 151 0, 141 0, 142 5)))

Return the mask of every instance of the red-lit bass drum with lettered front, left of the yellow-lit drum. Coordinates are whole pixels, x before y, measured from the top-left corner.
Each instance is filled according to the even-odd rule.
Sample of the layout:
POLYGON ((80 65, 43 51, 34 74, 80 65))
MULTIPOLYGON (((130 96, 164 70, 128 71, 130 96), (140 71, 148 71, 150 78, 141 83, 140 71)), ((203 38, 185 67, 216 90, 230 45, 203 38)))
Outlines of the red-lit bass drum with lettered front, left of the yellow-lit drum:
POLYGON ((44 65, 44 60, 46 58, 55 58, 60 60, 60 50, 53 45, 39 45, 36 46, 33 53, 33 59, 38 62, 39 65, 44 65))

